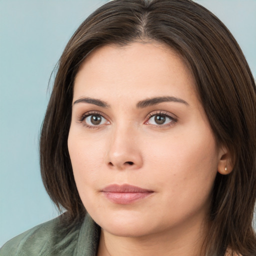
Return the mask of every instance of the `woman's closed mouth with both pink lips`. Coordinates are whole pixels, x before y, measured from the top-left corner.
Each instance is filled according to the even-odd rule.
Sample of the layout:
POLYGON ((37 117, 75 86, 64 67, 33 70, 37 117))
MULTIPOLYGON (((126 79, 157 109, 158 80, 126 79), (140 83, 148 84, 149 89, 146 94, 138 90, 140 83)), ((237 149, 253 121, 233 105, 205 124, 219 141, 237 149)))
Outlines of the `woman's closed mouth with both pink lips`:
POLYGON ((101 192, 111 202, 130 204, 146 198, 154 191, 129 184, 112 184, 104 187, 101 192))

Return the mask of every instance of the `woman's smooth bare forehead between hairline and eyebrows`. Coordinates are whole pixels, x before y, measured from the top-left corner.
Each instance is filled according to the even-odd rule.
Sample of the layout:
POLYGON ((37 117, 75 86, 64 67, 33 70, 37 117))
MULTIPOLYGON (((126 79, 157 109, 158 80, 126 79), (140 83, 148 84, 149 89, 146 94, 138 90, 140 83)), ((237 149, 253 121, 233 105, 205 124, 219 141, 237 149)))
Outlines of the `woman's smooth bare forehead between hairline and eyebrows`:
POLYGON ((194 79, 184 60, 157 42, 101 46, 86 57, 74 80, 74 100, 90 96, 108 101, 131 95, 139 100, 142 95, 166 94, 196 98, 194 79))

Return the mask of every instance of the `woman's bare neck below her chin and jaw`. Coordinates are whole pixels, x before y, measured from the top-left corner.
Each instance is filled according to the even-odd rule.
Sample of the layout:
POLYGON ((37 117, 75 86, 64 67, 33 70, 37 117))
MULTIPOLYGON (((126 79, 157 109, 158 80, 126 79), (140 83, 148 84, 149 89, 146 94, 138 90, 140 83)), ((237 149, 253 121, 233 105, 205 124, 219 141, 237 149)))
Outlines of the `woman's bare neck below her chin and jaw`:
POLYGON ((97 256, 204 255, 201 248, 205 231, 202 222, 138 237, 117 236, 101 229, 97 256))

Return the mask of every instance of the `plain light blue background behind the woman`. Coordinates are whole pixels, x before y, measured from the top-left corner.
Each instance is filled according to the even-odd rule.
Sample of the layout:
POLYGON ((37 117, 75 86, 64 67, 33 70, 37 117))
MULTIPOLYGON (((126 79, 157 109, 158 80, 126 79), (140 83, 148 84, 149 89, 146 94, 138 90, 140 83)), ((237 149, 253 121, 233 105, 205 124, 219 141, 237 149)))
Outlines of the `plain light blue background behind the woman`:
MULTIPOLYGON (((50 73, 78 25, 107 0, 0 0, 0 245, 57 215, 38 134, 50 73)), ((256 74, 256 0, 197 0, 230 29, 256 74)))

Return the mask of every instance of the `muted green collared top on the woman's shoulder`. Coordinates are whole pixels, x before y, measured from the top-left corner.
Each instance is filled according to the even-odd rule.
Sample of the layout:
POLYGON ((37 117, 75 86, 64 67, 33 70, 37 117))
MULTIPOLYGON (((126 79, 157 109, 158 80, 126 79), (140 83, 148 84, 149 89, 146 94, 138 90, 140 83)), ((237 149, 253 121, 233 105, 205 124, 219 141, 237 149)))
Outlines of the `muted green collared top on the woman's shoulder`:
POLYGON ((89 214, 69 231, 59 226, 57 217, 15 236, 0 248, 0 256, 96 256, 100 227, 89 214))

